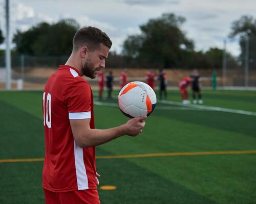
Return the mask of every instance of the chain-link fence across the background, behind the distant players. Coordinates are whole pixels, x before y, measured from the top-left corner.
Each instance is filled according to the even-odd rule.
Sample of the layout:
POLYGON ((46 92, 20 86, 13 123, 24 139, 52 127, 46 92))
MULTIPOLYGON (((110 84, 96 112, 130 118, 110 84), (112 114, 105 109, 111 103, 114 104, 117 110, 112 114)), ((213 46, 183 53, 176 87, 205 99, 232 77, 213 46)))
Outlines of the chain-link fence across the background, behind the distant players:
MULTIPOLYGON (((228 44, 227 44, 228 47, 228 44)), ((251 45, 251 49, 253 47, 251 45)), ((219 69, 199 69, 201 75, 201 84, 203 88, 212 87, 212 76, 217 74, 217 88, 256 88, 256 59, 254 55, 249 53, 249 59, 242 53, 239 58, 233 58, 229 55, 223 55, 223 67, 219 69), (243 56, 244 55, 244 56, 243 56), (246 65, 247 63, 247 65, 246 65)), ((47 82, 51 73, 57 70, 58 66, 65 64, 69 56, 61 57, 34 57, 34 56, 12 56, 12 88, 17 88, 18 83, 22 83, 22 88, 26 89, 42 89, 47 82), (22 81, 22 82, 20 82, 22 81)), ((108 59, 109 60, 109 59, 108 59)), ((5 75, 4 75, 5 58, 0 57, 0 88, 5 88, 5 75)), ((115 81, 114 86, 119 87, 119 74, 125 68, 125 63, 117 62, 113 59, 111 63, 106 63, 105 74, 109 70, 114 73, 115 81)), ((145 74, 150 69, 143 68, 128 68, 129 81, 144 81, 145 74)), ((158 68, 154 69, 158 73, 158 68)), ((183 77, 190 75, 189 69, 165 69, 168 77, 169 87, 178 87, 179 81, 183 77)), ((93 86, 97 86, 97 79, 86 78, 93 86)), ((156 87, 158 81, 156 81, 156 87)))

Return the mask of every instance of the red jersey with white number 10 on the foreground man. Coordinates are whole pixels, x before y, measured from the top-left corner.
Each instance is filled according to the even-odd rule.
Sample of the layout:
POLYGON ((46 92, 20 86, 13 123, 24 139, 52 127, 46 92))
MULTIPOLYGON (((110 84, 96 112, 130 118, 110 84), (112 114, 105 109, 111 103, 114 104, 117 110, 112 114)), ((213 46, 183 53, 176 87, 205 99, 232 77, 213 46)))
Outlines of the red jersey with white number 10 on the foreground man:
POLYGON ((42 186, 53 192, 97 189, 95 147, 80 148, 72 135, 70 119, 91 118, 93 94, 80 73, 61 65, 46 83, 42 100, 45 125, 45 162, 42 186))

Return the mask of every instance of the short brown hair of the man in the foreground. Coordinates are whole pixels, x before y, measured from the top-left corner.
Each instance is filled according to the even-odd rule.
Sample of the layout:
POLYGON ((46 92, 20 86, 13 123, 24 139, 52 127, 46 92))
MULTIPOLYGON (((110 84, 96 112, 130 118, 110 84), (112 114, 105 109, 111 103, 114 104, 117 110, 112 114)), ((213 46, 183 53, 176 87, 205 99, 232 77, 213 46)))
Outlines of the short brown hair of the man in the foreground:
POLYGON ((95 50, 100 43, 111 48, 112 41, 109 36, 95 27, 83 27, 79 29, 73 38, 73 50, 77 51, 82 46, 95 50))

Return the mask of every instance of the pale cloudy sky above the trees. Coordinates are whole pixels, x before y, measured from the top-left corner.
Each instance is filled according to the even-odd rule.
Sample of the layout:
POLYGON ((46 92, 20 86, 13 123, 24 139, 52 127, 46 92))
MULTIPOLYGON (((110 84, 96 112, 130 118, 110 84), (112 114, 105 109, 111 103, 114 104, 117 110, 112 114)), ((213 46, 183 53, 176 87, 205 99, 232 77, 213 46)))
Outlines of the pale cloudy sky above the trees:
MULTIPOLYGON (((0 0, 0 27, 5 33, 5 0, 0 0)), ((163 13, 186 18, 182 30, 193 39, 197 50, 223 48, 231 22, 242 15, 256 17, 256 0, 10 0, 11 33, 25 31, 32 25, 74 18, 81 25, 93 25, 106 32, 113 41, 112 50, 121 52, 127 35, 139 34, 139 25, 163 13)), ((227 49, 240 53, 236 41, 227 49)))

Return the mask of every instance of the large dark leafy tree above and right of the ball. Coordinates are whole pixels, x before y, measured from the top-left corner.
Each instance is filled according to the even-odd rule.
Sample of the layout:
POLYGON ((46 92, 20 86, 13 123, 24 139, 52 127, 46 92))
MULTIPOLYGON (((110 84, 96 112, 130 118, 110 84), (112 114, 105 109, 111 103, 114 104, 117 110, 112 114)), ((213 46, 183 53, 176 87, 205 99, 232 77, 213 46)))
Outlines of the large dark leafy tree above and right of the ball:
POLYGON ((150 19, 140 25, 140 35, 128 36, 124 41, 123 55, 147 66, 181 66, 183 55, 194 49, 193 41, 180 29, 184 22, 184 17, 172 13, 150 19))

